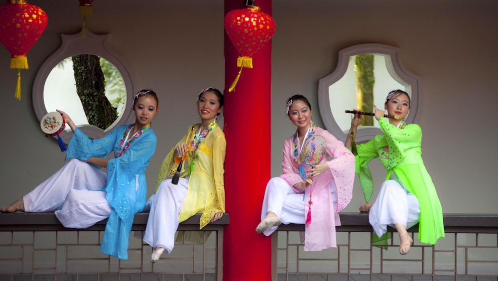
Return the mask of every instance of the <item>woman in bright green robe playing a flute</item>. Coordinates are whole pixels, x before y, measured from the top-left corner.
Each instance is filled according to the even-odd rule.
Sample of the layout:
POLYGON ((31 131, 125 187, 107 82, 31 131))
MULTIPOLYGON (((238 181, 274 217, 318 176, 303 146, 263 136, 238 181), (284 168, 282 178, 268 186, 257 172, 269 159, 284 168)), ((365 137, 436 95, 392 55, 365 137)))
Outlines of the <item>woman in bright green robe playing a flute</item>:
POLYGON ((381 237, 387 226, 399 235, 399 253, 404 255, 413 243, 406 229, 419 224, 418 239, 422 243, 436 244, 444 237, 443 212, 432 179, 422 160, 422 131, 417 124, 406 124, 410 97, 405 91, 391 91, 385 100, 384 110, 397 118, 384 118, 384 110, 375 107, 375 119, 382 135, 356 145, 354 137, 363 115, 355 114, 346 139, 346 147, 356 155, 356 172, 359 173, 366 204, 360 211, 369 212, 374 233, 381 237), (373 182, 368 163, 379 157, 387 174, 380 186, 375 202, 368 203, 373 182))

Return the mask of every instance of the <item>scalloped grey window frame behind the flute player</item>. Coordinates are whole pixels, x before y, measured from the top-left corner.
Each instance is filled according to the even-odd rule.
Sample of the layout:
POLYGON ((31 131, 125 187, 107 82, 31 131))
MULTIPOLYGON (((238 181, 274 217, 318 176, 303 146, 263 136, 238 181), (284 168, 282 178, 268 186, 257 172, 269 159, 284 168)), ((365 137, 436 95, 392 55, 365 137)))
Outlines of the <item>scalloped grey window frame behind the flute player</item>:
MULTIPOLYGON (((334 119, 334 114, 347 114, 343 112, 333 113, 330 108, 330 95, 329 87, 339 81, 346 70, 348 69, 349 58, 359 54, 375 54, 383 55, 388 73, 391 77, 401 85, 405 86, 405 90, 411 92, 411 105, 410 112, 406 117, 407 123, 417 123, 420 116, 420 104, 422 100, 421 92, 421 79, 419 76, 409 72, 403 65, 399 48, 379 44, 379 43, 366 43, 353 45, 339 51, 339 58, 336 69, 325 77, 318 80, 318 107, 320 116, 325 125, 325 128, 334 135, 338 140, 345 141, 347 132, 341 130, 339 125, 334 119)), ((394 89, 393 89, 394 90, 394 89)), ((403 90, 403 89, 402 89, 403 90)), ((348 93, 354 95, 355 93, 348 93)), ((387 93, 385 93, 387 95, 387 93)), ((382 107, 383 108, 383 107, 382 107)), ((348 110, 345 108, 345 110, 348 110)), ((372 126, 362 126, 358 128, 356 141, 366 142, 373 139, 375 135, 381 134, 380 129, 372 126)))

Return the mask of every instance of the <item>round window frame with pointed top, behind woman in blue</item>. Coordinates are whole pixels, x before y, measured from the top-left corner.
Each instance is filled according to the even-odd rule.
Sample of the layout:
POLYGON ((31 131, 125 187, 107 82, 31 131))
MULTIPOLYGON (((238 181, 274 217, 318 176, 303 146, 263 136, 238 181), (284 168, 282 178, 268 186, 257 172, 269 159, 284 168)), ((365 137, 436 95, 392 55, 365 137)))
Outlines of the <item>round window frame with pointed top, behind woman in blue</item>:
MULTIPOLYGON (((133 114, 131 114, 131 101, 133 93, 135 92, 133 76, 123 59, 121 59, 121 57, 107 45, 108 37, 109 34, 97 35, 88 30, 85 30, 83 37, 80 32, 76 34, 61 34, 61 46, 52 55, 50 55, 45 62, 43 62, 40 69, 36 73, 36 77, 33 82, 33 108, 38 120, 41 120, 43 116, 47 114, 44 101, 44 88, 45 81, 47 80, 52 69, 59 62, 70 56, 92 54, 108 60, 120 71, 123 76, 124 86, 126 88, 126 104, 124 106, 123 115, 106 130, 102 130, 93 125, 79 125, 78 128, 80 128, 80 130, 89 138, 98 139, 104 137, 106 132, 111 131, 119 125, 134 122, 133 114)), ((69 143, 69 140, 71 140, 73 132, 63 131, 59 136, 64 143, 67 144, 69 143)))

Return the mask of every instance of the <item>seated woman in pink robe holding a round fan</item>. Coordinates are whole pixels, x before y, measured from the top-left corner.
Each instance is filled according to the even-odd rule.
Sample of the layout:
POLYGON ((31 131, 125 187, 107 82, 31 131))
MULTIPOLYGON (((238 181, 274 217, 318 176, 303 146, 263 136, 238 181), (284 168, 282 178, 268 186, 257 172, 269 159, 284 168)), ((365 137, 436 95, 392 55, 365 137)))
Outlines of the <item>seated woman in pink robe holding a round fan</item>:
POLYGON ((287 100, 285 113, 297 127, 283 145, 282 175, 266 185, 257 233, 269 236, 281 223, 305 224, 304 251, 336 246, 339 212, 351 201, 355 156, 343 142, 311 121, 311 105, 302 95, 287 100), (301 149, 313 136, 326 141, 325 157, 317 164, 300 159, 301 149))

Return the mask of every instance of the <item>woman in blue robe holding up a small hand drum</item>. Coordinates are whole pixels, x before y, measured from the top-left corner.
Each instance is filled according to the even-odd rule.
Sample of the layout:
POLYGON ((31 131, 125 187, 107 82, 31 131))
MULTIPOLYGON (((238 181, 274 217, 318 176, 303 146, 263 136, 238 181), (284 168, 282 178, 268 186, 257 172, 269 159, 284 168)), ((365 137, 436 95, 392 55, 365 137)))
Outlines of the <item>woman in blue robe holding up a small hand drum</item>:
POLYGON ((135 123, 119 126, 98 140, 89 139, 65 112, 58 110, 74 132, 66 154, 69 160, 0 211, 55 212, 67 228, 87 228, 108 218, 100 250, 126 260, 134 214, 145 204, 145 168, 157 142, 150 123, 158 112, 158 103, 151 90, 134 94, 135 123), (107 157, 111 152, 114 158, 107 157))

